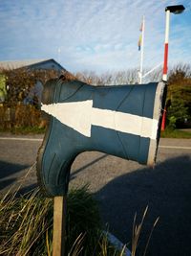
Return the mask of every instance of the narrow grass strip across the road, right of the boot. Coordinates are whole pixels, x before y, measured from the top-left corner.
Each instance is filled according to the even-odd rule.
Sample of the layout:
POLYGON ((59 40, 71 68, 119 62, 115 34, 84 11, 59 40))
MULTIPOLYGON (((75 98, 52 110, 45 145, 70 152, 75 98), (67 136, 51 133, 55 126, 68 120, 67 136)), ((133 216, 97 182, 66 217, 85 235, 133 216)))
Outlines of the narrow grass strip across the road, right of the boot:
POLYGON ((191 131, 166 128, 164 131, 161 131, 160 137, 161 138, 191 139, 191 131))

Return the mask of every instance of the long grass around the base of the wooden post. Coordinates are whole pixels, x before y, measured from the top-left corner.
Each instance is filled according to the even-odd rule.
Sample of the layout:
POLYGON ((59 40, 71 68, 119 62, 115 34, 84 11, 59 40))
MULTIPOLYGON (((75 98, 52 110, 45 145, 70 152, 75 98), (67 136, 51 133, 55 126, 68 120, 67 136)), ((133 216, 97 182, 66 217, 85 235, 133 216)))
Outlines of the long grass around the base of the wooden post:
MULTIPOLYGON (((0 255, 52 255, 53 199, 33 190, 0 199, 0 255)), ((67 197, 67 251, 70 256, 122 256, 101 231, 98 205, 87 187, 67 197)))

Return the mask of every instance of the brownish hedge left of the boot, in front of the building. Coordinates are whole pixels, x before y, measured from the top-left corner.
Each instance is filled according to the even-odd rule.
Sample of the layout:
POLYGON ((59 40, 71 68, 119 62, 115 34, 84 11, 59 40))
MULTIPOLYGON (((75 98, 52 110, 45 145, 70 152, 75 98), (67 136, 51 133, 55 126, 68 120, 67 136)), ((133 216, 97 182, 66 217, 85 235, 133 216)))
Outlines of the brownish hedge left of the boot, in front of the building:
MULTIPOLYGON (((1 70, 0 76, 6 78, 6 87, 9 87, 5 102, 0 104, 0 129, 15 131, 20 128, 39 127, 41 124, 40 97, 32 94, 32 88, 36 81, 45 84, 50 79, 58 78, 60 74, 54 70, 21 68, 1 70), (32 99, 27 98, 30 93, 32 99), (30 100, 32 104, 29 104, 30 100)), ((67 71, 62 74, 62 77, 63 80, 74 80, 74 76, 67 71)))

